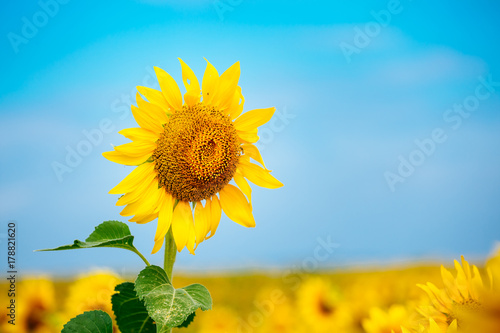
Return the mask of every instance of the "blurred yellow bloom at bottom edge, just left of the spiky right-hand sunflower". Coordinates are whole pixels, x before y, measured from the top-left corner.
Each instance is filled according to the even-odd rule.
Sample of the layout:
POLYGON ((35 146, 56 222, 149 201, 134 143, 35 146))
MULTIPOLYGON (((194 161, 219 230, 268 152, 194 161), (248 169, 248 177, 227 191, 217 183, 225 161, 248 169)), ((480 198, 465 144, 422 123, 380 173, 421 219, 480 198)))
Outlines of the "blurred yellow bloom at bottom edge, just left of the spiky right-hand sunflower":
POLYGON ((410 313, 403 305, 392 305, 387 311, 374 307, 370 317, 363 320, 366 333, 401 333, 401 326, 410 321, 410 313))

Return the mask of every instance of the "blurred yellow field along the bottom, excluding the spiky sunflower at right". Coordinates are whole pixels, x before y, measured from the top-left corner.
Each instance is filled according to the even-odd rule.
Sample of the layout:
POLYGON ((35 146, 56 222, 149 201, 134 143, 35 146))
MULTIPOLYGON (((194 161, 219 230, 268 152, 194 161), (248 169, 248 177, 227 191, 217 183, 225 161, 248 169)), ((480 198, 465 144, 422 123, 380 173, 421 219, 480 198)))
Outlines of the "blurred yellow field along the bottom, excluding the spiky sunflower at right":
MULTIPOLYGON (((490 261, 500 267, 498 259, 490 261)), ((456 267, 448 268, 455 276, 456 267)), ((486 278, 483 265, 480 272, 486 278)), ((401 326, 428 323, 419 309, 431 303, 417 284, 431 282, 442 289, 445 285, 441 274, 437 264, 315 273, 296 270, 266 274, 177 274, 176 287, 191 283, 205 285, 212 293, 214 308, 198 310, 193 324, 174 331, 400 333, 401 326)), ((127 280, 133 281, 133 277, 118 277, 103 270, 75 279, 27 277, 18 284, 18 331, 12 331, 11 325, 3 325, 1 332, 59 332, 69 319, 93 309, 104 310, 113 317, 110 303, 113 289, 127 280)), ((118 332, 116 327, 115 332, 118 332)))

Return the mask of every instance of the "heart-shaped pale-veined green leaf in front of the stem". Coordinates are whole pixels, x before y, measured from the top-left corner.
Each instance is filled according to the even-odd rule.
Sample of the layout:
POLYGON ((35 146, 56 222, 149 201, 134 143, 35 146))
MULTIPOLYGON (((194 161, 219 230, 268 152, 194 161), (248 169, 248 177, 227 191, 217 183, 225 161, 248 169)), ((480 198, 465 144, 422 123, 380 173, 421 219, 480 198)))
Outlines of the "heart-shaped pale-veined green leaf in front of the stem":
POLYGON ((135 291, 162 330, 182 325, 199 308, 203 311, 212 308, 207 288, 192 284, 175 289, 165 271, 158 266, 148 266, 139 273, 135 291))

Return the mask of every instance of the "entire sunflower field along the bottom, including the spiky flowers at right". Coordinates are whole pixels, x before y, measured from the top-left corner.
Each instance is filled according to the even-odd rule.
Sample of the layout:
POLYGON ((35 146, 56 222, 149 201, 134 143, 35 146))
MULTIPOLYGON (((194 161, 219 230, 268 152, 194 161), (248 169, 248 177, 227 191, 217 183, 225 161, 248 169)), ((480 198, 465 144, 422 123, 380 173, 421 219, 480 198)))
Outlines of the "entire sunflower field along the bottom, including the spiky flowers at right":
MULTIPOLYGON (((211 290, 214 307, 198 310, 196 321, 174 331, 500 332, 500 252, 479 266, 463 257, 450 264, 316 273, 179 274, 174 284, 201 281, 211 290)), ((114 318, 111 297, 115 286, 126 280, 105 270, 74 279, 26 277, 19 282, 17 327, 4 324, 0 331, 60 332, 69 319, 90 310, 114 318)), ((6 308, 1 311, 2 316, 8 314, 6 308)), ((113 332, 120 332, 113 321, 113 332)))

